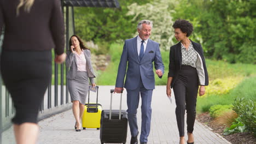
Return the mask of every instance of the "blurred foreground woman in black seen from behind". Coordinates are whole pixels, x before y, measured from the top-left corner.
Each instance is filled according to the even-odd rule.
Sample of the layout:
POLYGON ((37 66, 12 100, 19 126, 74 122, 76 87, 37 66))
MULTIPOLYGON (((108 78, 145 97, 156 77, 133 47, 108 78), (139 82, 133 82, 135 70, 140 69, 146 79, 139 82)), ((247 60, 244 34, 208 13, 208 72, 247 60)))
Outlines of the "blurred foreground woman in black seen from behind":
POLYGON ((0 0, 0 35, 3 26, 0 66, 15 107, 15 140, 34 144, 39 106, 51 82, 51 49, 56 63, 66 58, 61 1, 0 0))

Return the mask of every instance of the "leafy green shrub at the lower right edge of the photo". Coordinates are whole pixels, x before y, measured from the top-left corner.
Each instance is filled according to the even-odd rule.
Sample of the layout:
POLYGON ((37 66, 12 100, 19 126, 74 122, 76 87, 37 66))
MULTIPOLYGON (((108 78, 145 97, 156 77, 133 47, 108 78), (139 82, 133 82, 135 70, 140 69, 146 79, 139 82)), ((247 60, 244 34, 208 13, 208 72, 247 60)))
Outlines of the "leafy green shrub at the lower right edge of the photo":
POLYGON ((241 122, 245 124, 248 131, 252 131, 256 134, 256 109, 255 101, 245 98, 237 98, 233 102, 232 108, 238 116, 241 118, 241 122))

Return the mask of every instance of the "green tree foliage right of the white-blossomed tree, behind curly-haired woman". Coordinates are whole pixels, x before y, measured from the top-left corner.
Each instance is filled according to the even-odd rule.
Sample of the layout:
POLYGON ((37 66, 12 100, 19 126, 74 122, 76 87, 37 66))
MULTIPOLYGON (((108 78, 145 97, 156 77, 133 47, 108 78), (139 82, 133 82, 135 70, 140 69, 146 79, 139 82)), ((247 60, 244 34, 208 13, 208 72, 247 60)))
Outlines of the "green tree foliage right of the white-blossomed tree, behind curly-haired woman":
POLYGON ((177 17, 194 25, 206 56, 236 63, 256 63, 256 1, 181 0, 177 17), (193 23, 194 24, 194 23, 193 23))

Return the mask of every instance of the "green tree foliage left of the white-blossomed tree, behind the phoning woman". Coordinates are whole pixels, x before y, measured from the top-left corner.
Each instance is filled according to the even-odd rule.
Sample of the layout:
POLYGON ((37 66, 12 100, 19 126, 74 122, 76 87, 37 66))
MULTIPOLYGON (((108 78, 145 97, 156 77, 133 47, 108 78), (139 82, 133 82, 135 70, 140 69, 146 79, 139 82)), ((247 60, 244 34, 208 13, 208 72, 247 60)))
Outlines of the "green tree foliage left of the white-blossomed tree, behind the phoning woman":
MULTIPOLYGON (((149 2, 139 1, 139 4, 149 2)), ((131 15, 126 15, 127 5, 135 0, 119 0, 118 8, 83 8, 74 9, 75 33, 82 39, 95 43, 112 43, 120 39, 129 39, 136 32, 137 23, 132 23, 131 15)))

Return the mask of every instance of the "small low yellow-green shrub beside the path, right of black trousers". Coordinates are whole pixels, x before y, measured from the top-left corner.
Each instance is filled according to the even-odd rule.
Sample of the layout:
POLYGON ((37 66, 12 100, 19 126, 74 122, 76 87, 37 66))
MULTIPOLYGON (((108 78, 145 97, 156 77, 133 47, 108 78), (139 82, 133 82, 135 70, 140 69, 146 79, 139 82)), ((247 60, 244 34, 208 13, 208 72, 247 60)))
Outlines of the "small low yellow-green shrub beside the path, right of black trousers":
POLYGON ((218 117, 226 111, 232 110, 232 105, 213 105, 210 107, 211 117, 218 117))

